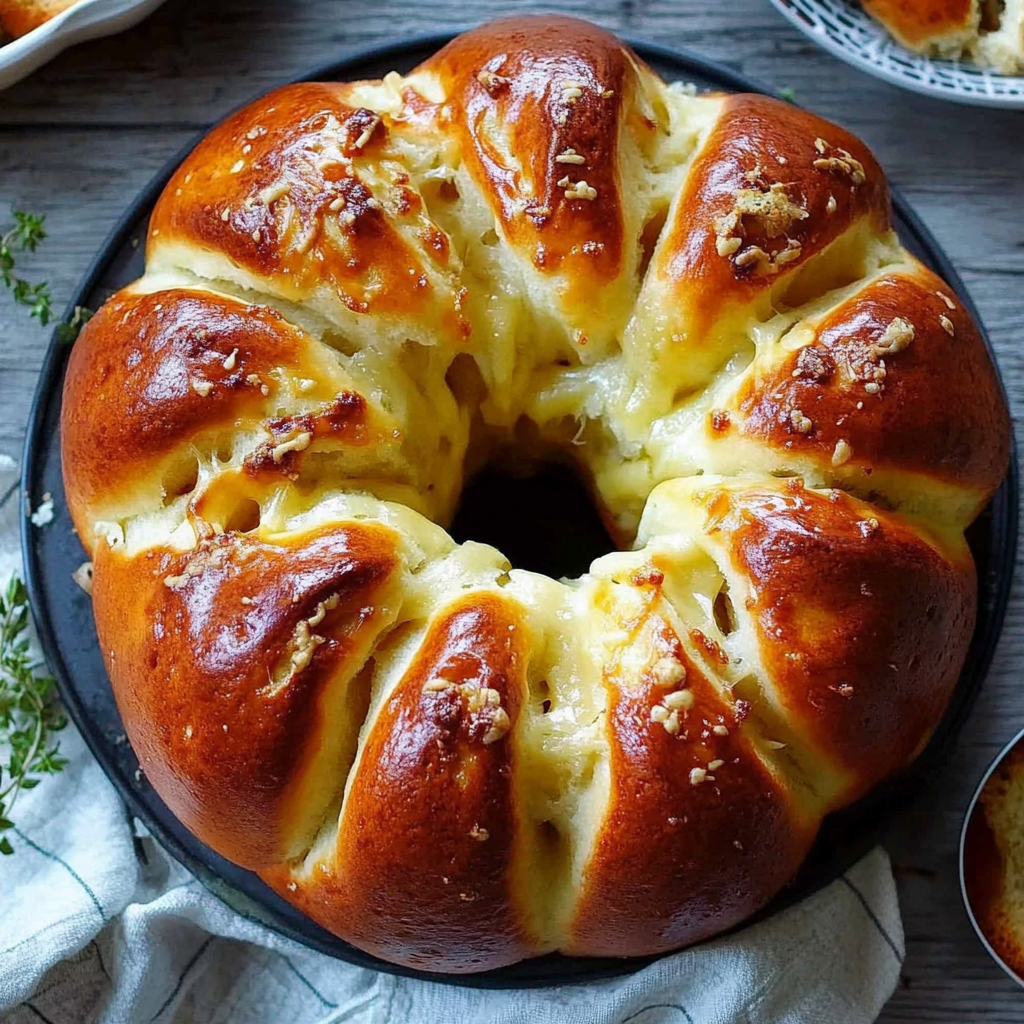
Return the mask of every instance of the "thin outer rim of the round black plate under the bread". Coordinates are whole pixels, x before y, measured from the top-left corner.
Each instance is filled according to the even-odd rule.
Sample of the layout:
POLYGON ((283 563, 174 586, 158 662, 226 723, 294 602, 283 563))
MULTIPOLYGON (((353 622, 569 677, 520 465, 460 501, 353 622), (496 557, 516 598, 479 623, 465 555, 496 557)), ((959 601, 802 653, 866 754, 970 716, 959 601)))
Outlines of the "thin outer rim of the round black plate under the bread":
MULTIPOLYGON (((62 319, 68 319, 73 313, 76 304, 80 304, 81 300, 88 296, 89 293, 98 286, 102 274, 108 269, 114 256, 123 249, 124 244, 130 240, 132 233, 136 229, 140 219, 140 211, 144 211, 152 207, 182 160, 195 148, 197 142, 201 138, 205 137, 212 127, 230 117, 236 111, 241 110, 253 100, 265 95, 267 92, 271 91, 272 88, 303 81, 342 80, 340 76, 344 75, 349 69, 357 69, 361 65, 387 59, 398 60, 402 57, 408 58, 410 54, 416 57, 419 53, 425 50, 427 52, 433 52, 445 43, 450 42, 456 36, 460 35, 462 32, 466 31, 468 28, 472 28, 472 26, 452 28, 439 32, 417 34, 387 43, 376 43, 370 46, 354 46, 346 48, 337 60, 317 65, 306 72, 280 82, 270 89, 260 89, 243 103, 238 104, 232 110, 226 111, 221 116, 217 117, 217 119, 211 122, 210 125, 199 130, 196 135, 189 138, 183 146, 172 154, 171 157, 155 172, 146 184, 134 195, 124 212, 116 221, 114 227, 108 232, 105 239, 97 249, 95 256, 90 262, 89 267, 83 274, 75 291, 74 297, 67 306, 62 319)), ((685 75, 694 74, 698 77, 705 78, 706 80, 714 81, 717 84, 724 84, 724 86, 729 90, 739 92, 758 92, 772 95, 779 99, 785 99, 785 97, 781 96, 777 90, 766 86, 732 68, 715 60, 707 59, 685 48, 667 46, 665 44, 654 43, 632 35, 624 34, 618 36, 618 38, 630 46, 641 57, 641 59, 645 61, 650 60, 652 62, 660 60, 673 69, 678 69, 682 78, 685 78, 685 75)), ((666 77, 672 80, 672 76, 666 77)), ((892 196, 894 211, 898 212, 900 218, 914 236, 914 241, 916 241, 928 253, 929 259, 933 261, 938 272, 946 280, 947 285, 953 289, 961 301, 967 307, 968 312, 971 313, 975 323, 978 325, 986 349, 988 350, 989 356, 996 368, 996 376, 999 383, 1000 393, 1004 395, 1004 399, 1008 402, 1009 407, 1006 384, 1002 375, 999 372, 998 362, 995 359, 995 353, 992 349, 988 333, 985 330, 983 322, 978 315, 977 307, 975 306, 964 281, 952 266, 949 257, 939 245, 938 241, 933 238, 912 207, 903 198, 899 189, 890 186, 890 193, 892 196)), ((150 812, 144 800, 141 799, 141 795, 132 787, 129 780, 124 777, 123 773, 117 768, 117 766, 111 763, 110 759, 106 757, 99 737, 97 735, 93 735, 93 729, 89 722, 89 716, 82 706, 82 702, 78 699, 78 687, 75 683, 74 676, 65 663, 59 644, 56 640, 58 631, 54 628, 50 609, 42 597, 41 569, 37 560, 36 544, 36 538, 39 536, 39 532, 34 530, 29 523, 28 509, 32 505, 31 498, 35 493, 34 482, 39 475, 40 465, 42 462, 41 455, 45 450, 41 441, 45 439, 43 431, 46 426, 46 417, 52 403, 56 403, 59 407, 62 401, 62 388, 54 389, 53 384, 54 381, 59 382, 62 379, 65 364, 67 362, 67 356, 71 347, 71 345, 67 345, 58 341, 56 337, 56 330, 54 330, 39 373, 39 378, 29 413, 19 479, 23 511, 22 558, 25 582, 29 593, 33 620, 40 640, 40 646, 47 660, 47 665, 57 680, 57 688, 65 708, 68 711, 69 717, 75 723, 76 728, 85 740, 92 756, 99 763, 103 773, 118 791, 119 797, 126 804, 131 815, 138 818, 145 825, 166 852, 182 863, 200 880, 205 888, 207 888, 222 902, 225 902, 231 910, 240 913, 243 918, 251 922, 259 924, 260 926, 267 928, 279 935, 283 935, 295 942, 298 942, 306 948, 312 949, 324 955, 332 956, 335 959, 349 963, 356 967, 370 968, 387 974, 430 981, 437 984, 453 984, 460 987, 481 989, 515 989, 542 986, 562 987, 581 985, 633 974, 651 964, 657 963, 658 961, 667 957, 678 955, 680 952, 685 951, 672 950, 667 953, 641 957, 572 957, 571 959, 573 962, 578 964, 586 964, 587 967, 581 968, 579 971, 571 974, 566 971, 562 971, 560 973, 544 973, 543 970, 541 970, 543 963, 545 961, 550 961, 552 956, 559 957, 563 963, 566 959, 569 959, 568 957, 561 957, 560 954, 546 954, 545 956, 532 957, 520 961, 517 964, 510 965, 506 968, 499 968, 495 971, 476 974, 439 974, 436 972, 421 971, 414 968, 406 968, 400 965, 391 964, 387 961, 373 956, 370 953, 366 953, 357 947, 352 946, 349 943, 345 943, 344 940, 338 939, 337 937, 333 938, 345 946, 344 952, 333 948, 325 948, 322 944, 317 944, 315 940, 311 940, 307 936, 297 933, 288 927, 284 927, 279 923, 268 922, 262 916, 250 915, 245 912, 245 910, 241 909, 236 903, 229 902, 223 895, 225 891, 237 894, 245 901, 253 902, 253 900, 247 893, 244 893, 231 886, 230 883, 218 874, 213 867, 200 861, 194 853, 184 849, 173 836, 170 836, 163 828, 163 826, 160 825, 155 816, 150 812), (532 965, 538 970, 522 977, 517 976, 515 973, 515 969, 517 968, 529 971, 529 968, 523 968, 524 965, 532 965)), ((59 443, 59 440, 57 440, 57 443, 59 443)), ((936 743, 933 740, 947 727, 953 728, 954 735, 958 732, 959 728, 964 724, 967 714, 970 712, 970 709, 974 703, 974 700, 977 698, 981 687, 984 685, 985 678, 995 652, 998 637, 1001 634, 1010 599, 1014 574, 1013 555, 1016 552, 1020 515, 1018 495, 1019 467, 1016 438, 1014 438, 1007 477, 1000 484, 998 492, 988 506, 989 508, 994 508, 996 502, 1000 500, 1001 496, 1000 509, 1002 517, 1000 522, 1002 524, 1002 545, 1000 547, 1000 551, 1004 553, 1009 552, 1011 560, 1009 569, 1002 571, 995 581, 995 586, 991 594, 991 609, 984 621, 980 617, 979 607, 979 618, 975 624, 975 632, 972 636, 972 649, 976 644, 980 647, 980 656, 974 663, 976 668, 973 675, 976 678, 976 682, 961 696, 958 705, 955 700, 950 701, 940 725, 937 727, 935 734, 929 741, 928 748, 926 748, 922 756, 913 763, 913 765, 910 766, 909 769, 907 769, 906 772, 888 780, 887 783, 884 783, 884 786, 887 788, 884 788, 883 793, 880 795, 882 798, 892 799, 894 795, 898 794, 901 787, 905 786, 907 788, 911 788, 914 786, 915 782, 920 784, 918 776, 922 774, 926 766, 928 766, 929 754, 936 748, 936 743), (954 707, 954 705, 957 706, 954 707)), ((966 668, 967 663, 965 663, 965 670, 966 668)), ((957 689, 959 689, 959 685, 957 686, 957 689)), ((938 752, 940 756, 942 753, 943 752, 941 751, 938 752)), ((878 790, 872 791, 872 795, 877 794, 879 794, 878 790)), ((858 805, 853 806, 857 807, 864 805, 865 813, 884 815, 885 809, 872 809, 868 803, 870 800, 871 797, 869 796, 865 798, 865 801, 859 802, 858 805)), ((869 848, 869 845, 867 848, 869 848)), ((862 852, 866 853, 867 849, 864 849, 862 852)), ((836 878, 839 878, 839 874, 835 876, 831 880, 821 880, 813 887, 806 888, 800 893, 799 898, 804 899, 812 895, 814 892, 823 888, 824 885, 828 884, 829 881, 835 881, 836 878)), ((772 901, 766 905, 766 907, 763 907, 757 913, 744 920, 735 928, 713 936, 711 939, 706 941, 714 941, 715 939, 722 938, 726 935, 730 935, 741 929, 748 928, 755 923, 764 921, 792 905, 793 902, 793 900, 785 899, 785 891, 783 890, 782 893, 777 894, 772 901)), ((267 910, 266 912, 270 911, 267 910)), ((698 943, 695 946, 686 947, 686 949, 698 948, 699 945, 702 944, 703 943, 698 943)))

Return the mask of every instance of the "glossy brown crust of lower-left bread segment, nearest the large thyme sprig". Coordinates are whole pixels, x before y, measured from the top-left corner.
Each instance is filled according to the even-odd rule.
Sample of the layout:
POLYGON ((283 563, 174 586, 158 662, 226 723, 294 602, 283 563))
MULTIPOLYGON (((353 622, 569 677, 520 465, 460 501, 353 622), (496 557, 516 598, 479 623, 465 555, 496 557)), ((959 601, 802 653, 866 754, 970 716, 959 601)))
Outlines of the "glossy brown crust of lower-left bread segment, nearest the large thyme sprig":
POLYGON ((336 728, 328 691, 358 672, 387 623, 395 546, 391 530, 364 524, 272 544, 224 534, 134 558, 97 547, 96 630, 139 764, 185 826, 236 863, 301 853, 344 781, 337 759, 318 763, 336 728), (294 807, 309 773, 327 780, 323 804, 294 807))

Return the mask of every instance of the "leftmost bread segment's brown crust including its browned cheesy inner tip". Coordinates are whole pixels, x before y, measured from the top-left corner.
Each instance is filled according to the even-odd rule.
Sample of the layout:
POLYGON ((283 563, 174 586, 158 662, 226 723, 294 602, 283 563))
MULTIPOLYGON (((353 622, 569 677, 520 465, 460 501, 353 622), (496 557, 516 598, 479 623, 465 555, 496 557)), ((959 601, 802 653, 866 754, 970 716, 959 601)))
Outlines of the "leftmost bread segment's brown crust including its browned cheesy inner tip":
POLYGON ((269 306, 181 288, 114 296, 83 329, 65 384, 65 487, 83 541, 97 519, 173 501, 195 484, 182 465, 194 474, 228 437, 230 458, 245 431, 265 439, 233 455, 270 484, 321 447, 393 445, 394 428, 318 348, 269 306))

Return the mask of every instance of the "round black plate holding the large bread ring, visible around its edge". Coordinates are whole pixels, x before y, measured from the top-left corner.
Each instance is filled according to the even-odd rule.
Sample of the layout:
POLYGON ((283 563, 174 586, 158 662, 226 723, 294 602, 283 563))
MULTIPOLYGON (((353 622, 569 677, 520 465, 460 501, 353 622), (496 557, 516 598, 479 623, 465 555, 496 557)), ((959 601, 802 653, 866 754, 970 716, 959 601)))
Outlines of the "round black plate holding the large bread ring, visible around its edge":
MULTIPOLYGON (((337 63, 316 69, 304 78, 377 78, 392 69, 407 71, 449 38, 449 35, 437 35, 362 50, 337 63)), ((670 80, 695 82, 701 89, 766 91, 728 69, 695 56, 647 43, 636 42, 633 45, 641 56, 670 80)), ((95 309, 114 291, 141 274, 146 221, 157 197, 183 156, 184 154, 165 167, 129 207, 121 223, 100 249, 73 304, 95 309)), ((963 283, 936 242, 898 196, 894 202, 896 225, 904 245, 937 270, 958 294, 968 309, 974 312, 963 283)), ((141 819, 171 854, 229 906, 250 920, 340 959, 394 974, 437 979, 437 975, 410 971, 370 956, 318 928, 271 892, 255 874, 219 857, 186 831, 154 793, 144 776, 136 772, 138 762, 125 738, 100 658, 89 599, 71 579, 72 572, 86 559, 86 555, 72 531, 60 480, 58 422, 68 352, 68 346, 62 346, 55 340, 51 342, 32 412, 23 470, 23 494, 27 508, 37 506, 44 494, 49 493, 54 499, 55 517, 50 525, 38 528, 26 522, 25 568, 43 649, 56 675, 60 694, 71 717, 111 781, 124 797, 131 813, 141 819)), ((488 486, 503 485, 507 486, 507 481, 503 484, 500 480, 484 480, 473 486, 486 489, 488 486)), ((571 490, 575 484, 568 479, 568 474, 549 471, 534 481, 524 481, 522 486, 557 492, 563 486, 571 490)), ((520 501, 515 503, 517 508, 523 507, 521 497, 520 495, 520 501)), ((560 505, 560 502, 530 502, 531 508, 558 508, 560 505)), ((911 771, 825 822, 820 838, 798 878, 759 914, 760 918, 807 896, 850 867, 878 842, 886 822, 899 813, 923 774, 948 754, 984 679, 1002 625, 1014 564, 1017 514, 1015 458, 1007 480, 970 531, 971 547, 978 565, 978 625, 949 711, 934 739, 911 771)), ((531 523, 530 526, 532 525, 531 523)), ((549 538, 554 537, 554 548, 558 549, 559 532, 566 546, 578 540, 574 536, 567 535, 564 526, 564 523, 553 522, 538 524, 537 529, 547 530, 549 538)), ((463 536, 472 532, 472 523, 465 516, 459 532, 463 536)), ((476 539, 486 538, 476 535, 476 539)), ((564 550, 568 548, 565 547, 564 550)), ((513 551, 508 553, 515 556, 513 551)), ((551 567, 550 563, 548 567, 551 567)), ((579 565, 574 567, 580 568, 579 565)), ((559 571, 555 569, 556 574, 559 571)), ((565 571, 565 568, 561 571, 565 571)), ((559 984, 625 974, 637 970, 644 963, 647 962, 549 955, 485 974, 447 976, 444 980, 492 988, 559 984)))

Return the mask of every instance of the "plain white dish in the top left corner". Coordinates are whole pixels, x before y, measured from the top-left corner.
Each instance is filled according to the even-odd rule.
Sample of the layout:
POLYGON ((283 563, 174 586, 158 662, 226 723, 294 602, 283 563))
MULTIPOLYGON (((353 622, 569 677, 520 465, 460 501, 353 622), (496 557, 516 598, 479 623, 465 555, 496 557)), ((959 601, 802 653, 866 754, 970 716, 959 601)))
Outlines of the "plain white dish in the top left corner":
POLYGON ((164 0, 81 0, 74 7, 0 46, 0 89, 19 82, 61 50, 137 25, 164 0))

